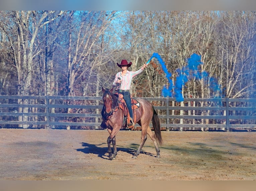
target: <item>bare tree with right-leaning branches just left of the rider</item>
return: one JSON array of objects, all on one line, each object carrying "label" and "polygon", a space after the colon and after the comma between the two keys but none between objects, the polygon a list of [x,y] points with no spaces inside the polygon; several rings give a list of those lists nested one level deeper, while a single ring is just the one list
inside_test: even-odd
[{"label": "bare tree with right-leaning branches just left of the rider", "polygon": [[115,17],[115,11],[70,12],[67,95],[76,95],[75,83],[83,76],[86,76],[84,91],[91,92],[89,85],[95,80],[92,76],[105,64],[101,59],[104,47],[100,46],[104,42],[103,34]]}]

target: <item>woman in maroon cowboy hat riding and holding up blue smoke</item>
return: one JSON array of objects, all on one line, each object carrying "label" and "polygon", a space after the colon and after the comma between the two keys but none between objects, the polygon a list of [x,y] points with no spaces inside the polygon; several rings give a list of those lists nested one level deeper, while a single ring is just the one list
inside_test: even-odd
[{"label": "woman in maroon cowboy hat riding and holding up blue smoke", "polygon": [[139,70],[133,72],[127,70],[132,65],[132,62],[128,64],[126,60],[122,60],[121,64],[117,63],[117,66],[122,69],[121,72],[118,72],[115,76],[115,80],[113,82],[113,86],[115,87],[117,83],[121,83],[119,87],[119,93],[124,96],[124,100],[126,102],[128,111],[130,113],[131,121],[128,123],[128,127],[134,125],[133,122],[133,112],[132,112],[132,103],[131,103],[131,95],[130,95],[130,88],[132,83],[132,78],[137,76],[138,74],[142,73],[143,70],[148,66],[144,64]]}]

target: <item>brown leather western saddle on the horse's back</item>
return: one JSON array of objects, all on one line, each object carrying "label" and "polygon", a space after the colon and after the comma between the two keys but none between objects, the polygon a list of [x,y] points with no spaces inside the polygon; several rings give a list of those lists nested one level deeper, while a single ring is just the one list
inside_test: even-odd
[{"label": "brown leather western saddle on the horse's back", "polygon": [[[122,127],[128,127],[128,128],[134,128],[135,124],[132,126],[128,126],[128,120],[130,119],[130,113],[129,110],[127,108],[127,105],[125,103],[125,100],[123,99],[123,95],[122,94],[118,94],[118,93],[114,93],[115,96],[118,97],[119,100],[119,108],[122,109],[123,111],[123,123],[122,123]],[[131,97],[131,101],[132,101],[132,111],[133,111],[133,121],[136,123],[136,109],[140,107],[140,103]]]}]

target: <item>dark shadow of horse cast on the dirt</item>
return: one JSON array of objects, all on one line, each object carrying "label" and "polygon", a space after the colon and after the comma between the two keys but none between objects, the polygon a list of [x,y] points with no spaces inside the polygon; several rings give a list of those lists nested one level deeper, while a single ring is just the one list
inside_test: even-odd
[{"label": "dark shadow of horse cast on the dirt", "polygon": [[[97,154],[98,157],[110,160],[109,157],[108,157],[108,147],[107,146],[102,147],[102,145],[104,145],[104,144],[107,145],[107,143],[90,144],[90,143],[86,143],[86,142],[81,142],[80,144],[82,144],[82,146],[84,148],[76,149],[77,151],[83,152],[85,154],[90,154],[90,153],[91,154]],[[117,153],[118,153],[118,151],[123,151],[123,152],[129,153],[130,155],[134,155],[137,151],[135,149],[136,146],[139,146],[139,145],[131,144],[132,148],[118,147],[118,145],[117,145]],[[113,148],[112,148],[112,151],[113,151]],[[146,154],[146,155],[149,155],[149,156],[154,156],[151,153],[148,153],[148,152],[145,152],[145,151],[141,151],[140,154]]]}]

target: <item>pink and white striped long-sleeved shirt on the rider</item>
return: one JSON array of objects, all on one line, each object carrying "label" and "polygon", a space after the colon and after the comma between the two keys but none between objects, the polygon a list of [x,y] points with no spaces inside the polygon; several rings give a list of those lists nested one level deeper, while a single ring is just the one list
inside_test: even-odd
[{"label": "pink and white striped long-sleeved shirt on the rider", "polygon": [[131,88],[131,83],[132,83],[132,78],[137,76],[138,74],[142,73],[144,70],[143,67],[141,67],[139,70],[133,72],[133,71],[128,71],[124,76],[121,75],[121,72],[118,72],[115,76],[115,80],[113,82],[113,85],[115,86],[117,83],[118,78],[121,78],[121,86],[120,90],[130,90]]}]

